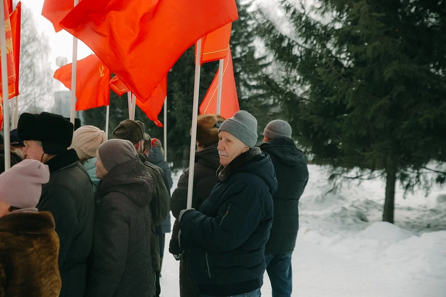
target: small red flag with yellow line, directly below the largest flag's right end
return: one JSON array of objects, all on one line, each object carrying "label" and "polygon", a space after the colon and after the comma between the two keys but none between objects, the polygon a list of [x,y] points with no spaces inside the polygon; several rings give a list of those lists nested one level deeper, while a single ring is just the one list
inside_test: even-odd
[{"label": "small red flag with yellow line, directly below the largest flag's right end", "polygon": [[[201,47],[201,65],[206,62],[220,60],[226,57],[231,38],[232,23],[210,32],[203,37]],[[195,44],[195,58],[197,57],[197,44]]]}]

